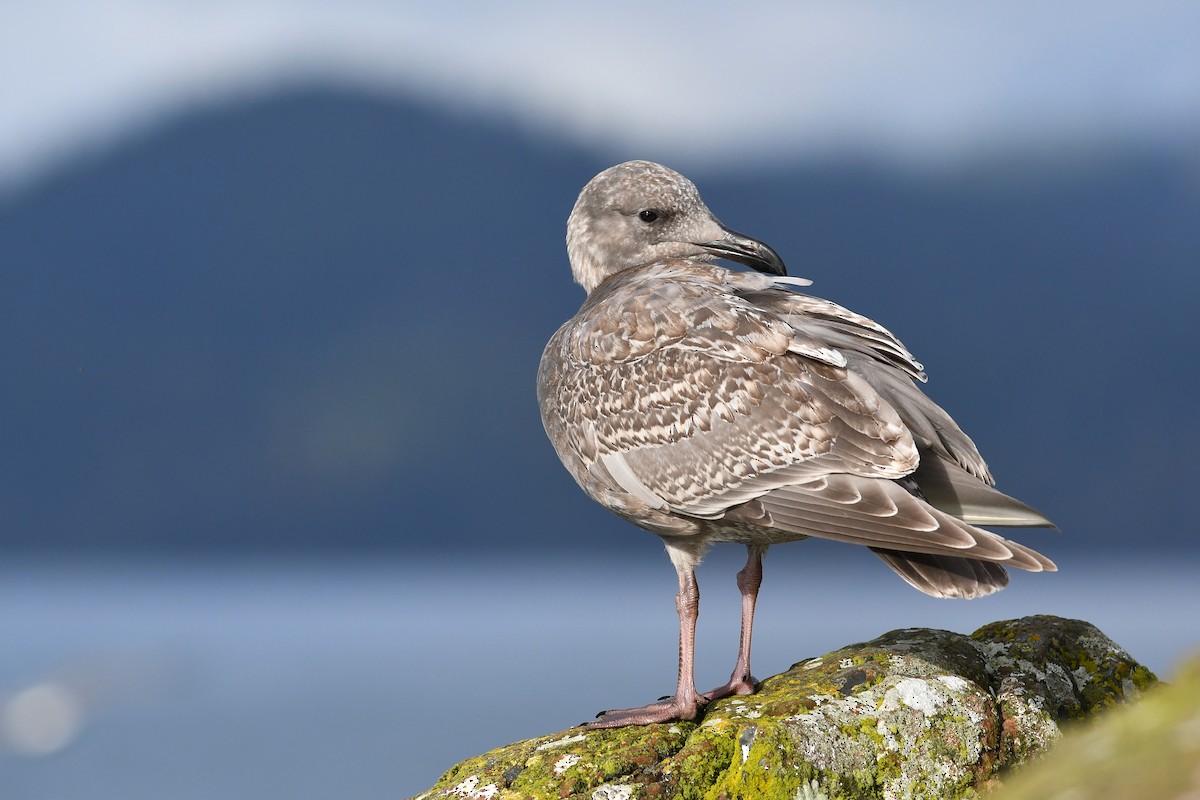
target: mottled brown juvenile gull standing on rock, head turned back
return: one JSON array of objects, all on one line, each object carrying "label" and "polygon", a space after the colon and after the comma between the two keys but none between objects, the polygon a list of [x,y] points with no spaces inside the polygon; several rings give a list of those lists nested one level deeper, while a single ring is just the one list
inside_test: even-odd
[{"label": "mottled brown juvenile gull standing on rock, head turned back", "polygon": [[[683,175],[647,161],[583,187],[566,251],[587,299],[538,371],[546,433],[588,497],[666,543],[679,577],[674,696],[589,727],[694,720],[755,690],[750,634],[762,555],[809,536],[864,545],[935,597],[979,597],[1004,566],[1052,571],[977,525],[1052,527],[991,488],[974,444],[914,381],[877,323],[798,293],[767,245],[724,227]],[[757,272],[726,269],[724,258]],[[695,567],[746,546],[730,680],[698,693]]]}]

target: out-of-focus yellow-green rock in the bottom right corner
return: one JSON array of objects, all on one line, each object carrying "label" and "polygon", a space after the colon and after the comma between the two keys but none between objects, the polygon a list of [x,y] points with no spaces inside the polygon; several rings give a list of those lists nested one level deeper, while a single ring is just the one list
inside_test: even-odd
[{"label": "out-of-focus yellow-green rock in the bottom right corner", "polygon": [[996,800],[1200,798],[1200,656],[1145,700],[1068,730]]}]

